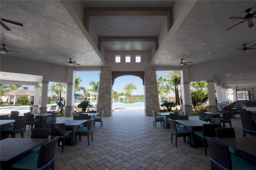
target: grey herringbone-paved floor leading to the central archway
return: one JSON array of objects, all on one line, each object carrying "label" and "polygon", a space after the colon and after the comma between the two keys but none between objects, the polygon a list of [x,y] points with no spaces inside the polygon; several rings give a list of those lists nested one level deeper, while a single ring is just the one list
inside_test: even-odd
[{"label": "grey herringbone-paved floor leading to the central archway", "polygon": [[[72,117],[58,117],[57,123],[63,119]],[[232,126],[236,136],[242,137],[239,115],[232,119]],[[76,146],[65,146],[64,153],[57,146],[55,169],[210,170],[210,154],[205,156],[204,148],[190,148],[183,138],[178,138],[176,148],[175,137],[174,143],[170,142],[170,129],[161,127],[159,122],[154,128],[153,117],[144,116],[144,109],[117,109],[112,117],[103,118],[102,128],[96,122],[93,134],[90,146],[87,136],[82,136]],[[30,128],[26,128],[25,136],[30,137]]]}]

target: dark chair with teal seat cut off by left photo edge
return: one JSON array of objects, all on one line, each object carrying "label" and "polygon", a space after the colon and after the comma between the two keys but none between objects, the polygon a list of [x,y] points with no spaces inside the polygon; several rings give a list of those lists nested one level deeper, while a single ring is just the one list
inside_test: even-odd
[{"label": "dark chair with teal seat cut off by left photo edge", "polygon": [[17,119],[14,122],[14,126],[1,129],[1,135],[10,134],[11,138],[15,138],[16,134],[21,134],[22,138],[24,138],[24,125],[26,119]]}]

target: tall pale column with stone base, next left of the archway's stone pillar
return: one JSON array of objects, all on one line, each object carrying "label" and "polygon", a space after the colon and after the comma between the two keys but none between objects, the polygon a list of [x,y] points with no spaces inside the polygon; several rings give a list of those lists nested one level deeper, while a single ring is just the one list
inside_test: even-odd
[{"label": "tall pale column with stone base, next left of the archway's stone pillar", "polygon": [[64,117],[72,117],[72,112],[74,112],[74,93],[75,93],[74,89],[75,89],[74,67],[68,67]]}]

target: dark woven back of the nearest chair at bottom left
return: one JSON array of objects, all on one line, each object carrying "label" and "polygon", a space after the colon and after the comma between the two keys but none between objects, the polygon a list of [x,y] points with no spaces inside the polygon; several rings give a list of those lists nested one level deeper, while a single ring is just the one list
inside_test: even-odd
[{"label": "dark woven back of the nearest chair at bottom left", "polygon": [[49,142],[46,142],[41,145],[38,156],[37,168],[42,168],[46,164],[50,164],[51,162],[54,161],[57,142],[58,136],[53,138]]}]

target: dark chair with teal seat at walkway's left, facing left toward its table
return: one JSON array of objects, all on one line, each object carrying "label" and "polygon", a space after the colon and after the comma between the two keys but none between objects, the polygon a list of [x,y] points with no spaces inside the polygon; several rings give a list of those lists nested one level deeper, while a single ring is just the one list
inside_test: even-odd
[{"label": "dark chair with teal seat at walkway's left, facing left toward its table", "polygon": [[93,140],[93,123],[94,123],[94,118],[92,118],[88,121],[88,126],[87,127],[81,127],[81,128],[76,129],[75,145],[76,145],[77,136],[79,136],[80,141],[81,141],[82,136],[87,136],[88,146],[90,145],[90,135],[91,135],[91,138]]}]

